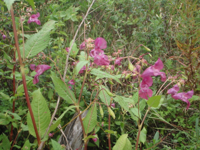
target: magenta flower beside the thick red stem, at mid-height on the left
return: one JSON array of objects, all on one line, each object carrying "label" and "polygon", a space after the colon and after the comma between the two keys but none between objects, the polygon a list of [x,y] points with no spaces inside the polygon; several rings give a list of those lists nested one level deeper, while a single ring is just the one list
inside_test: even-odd
[{"label": "magenta flower beside the thick red stem, at mid-height on the left", "polygon": [[36,84],[39,82],[39,76],[43,74],[46,70],[50,69],[51,66],[49,65],[38,65],[37,67],[34,64],[30,65],[31,70],[35,70],[36,75],[33,79],[33,84]]}]

